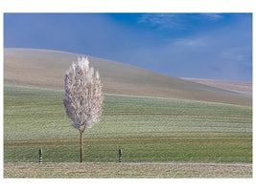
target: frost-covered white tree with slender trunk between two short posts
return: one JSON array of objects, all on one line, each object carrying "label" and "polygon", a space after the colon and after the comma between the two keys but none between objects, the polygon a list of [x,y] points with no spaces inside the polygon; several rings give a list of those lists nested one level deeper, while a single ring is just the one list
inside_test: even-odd
[{"label": "frost-covered white tree with slender trunk between two short posts", "polygon": [[82,138],[85,128],[91,128],[102,115],[104,96],[100,74],[89,66],[87,57],[79,57],[65,74],[66,114],[73,121],[72,126],[80,131],[81,162],[83,161]]}]

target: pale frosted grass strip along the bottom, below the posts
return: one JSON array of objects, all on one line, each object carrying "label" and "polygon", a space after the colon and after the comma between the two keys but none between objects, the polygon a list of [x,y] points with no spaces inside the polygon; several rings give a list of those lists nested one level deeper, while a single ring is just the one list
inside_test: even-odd
[{"label": "pale frosted grass strip along the bottom, below the posts", "polygon": [[4,178],[252,178],[251,164],[4,163]]}]

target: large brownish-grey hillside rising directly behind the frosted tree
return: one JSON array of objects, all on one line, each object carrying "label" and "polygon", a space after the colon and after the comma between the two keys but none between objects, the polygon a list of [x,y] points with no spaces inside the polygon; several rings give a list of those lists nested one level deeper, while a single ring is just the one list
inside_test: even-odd
[{"label": "large brownish-grey hillside rising directly behind the frosted tree", "polygon": [[[79,55],[49,50],[5,49],[4,81],[6,84],[61,90],[65,71]],[[97,57],[89,56],[89,60],[90,65],[99,70],[106,94],[173,97],[251,106],[252,98],[246,94]]]}]

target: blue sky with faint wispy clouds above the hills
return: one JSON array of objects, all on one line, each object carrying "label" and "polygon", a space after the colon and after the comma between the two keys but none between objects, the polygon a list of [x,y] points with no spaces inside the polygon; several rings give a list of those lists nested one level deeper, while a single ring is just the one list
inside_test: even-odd
[{"label": "blue sky with faint wispy clouds above the hills", "polygon": [[89,54],[177,77],[252,80],[251,13],[5,13],[4,47]]}]

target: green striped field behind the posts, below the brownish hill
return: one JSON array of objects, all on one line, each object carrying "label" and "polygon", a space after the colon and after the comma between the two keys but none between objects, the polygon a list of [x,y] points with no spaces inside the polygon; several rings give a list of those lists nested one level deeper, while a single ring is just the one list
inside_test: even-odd
[{"label": "green striped field behind the posts, below the brownish hill", "polygon": [[[4,87],[4,162],[80,161],[62,91]],[[84,132],[85,162],[252,163],[252,108],[105,95],[101,121]]]}]

